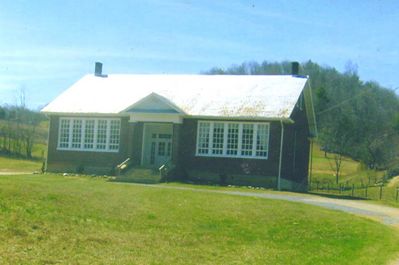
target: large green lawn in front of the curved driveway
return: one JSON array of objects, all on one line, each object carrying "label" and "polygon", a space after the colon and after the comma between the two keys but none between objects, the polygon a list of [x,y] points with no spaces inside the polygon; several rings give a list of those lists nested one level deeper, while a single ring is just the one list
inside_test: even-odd
[{"label": "large green lawn in front of the curved driveway", "polygon": [[0,264],[384,264],[399,238],[309,205],[112,183],[0,177]]}]

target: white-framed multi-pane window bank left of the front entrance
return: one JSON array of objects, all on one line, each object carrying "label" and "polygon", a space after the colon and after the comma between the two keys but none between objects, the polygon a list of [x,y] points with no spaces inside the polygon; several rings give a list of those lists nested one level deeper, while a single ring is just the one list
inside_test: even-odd
[{"label": "white-framed multi-pane window bank left of the front entrance", "polygon": [[58,149],[118,152],[120,119],[60,118]]}]

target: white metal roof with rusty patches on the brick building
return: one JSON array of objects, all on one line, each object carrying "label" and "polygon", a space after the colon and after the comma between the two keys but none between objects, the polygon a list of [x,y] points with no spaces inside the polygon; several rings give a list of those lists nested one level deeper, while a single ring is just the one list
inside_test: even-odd
[{"label": "white metal roof with rusty patches on the brick building", "polygon": [[156,93],[187,115],[289,118],[306,82],[290,75],[86,75],[42,111],[119,114]]}]

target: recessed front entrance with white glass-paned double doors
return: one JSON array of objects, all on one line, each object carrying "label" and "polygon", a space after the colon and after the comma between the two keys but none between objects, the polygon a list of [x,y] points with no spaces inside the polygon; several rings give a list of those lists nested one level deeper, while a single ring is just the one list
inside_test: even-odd
[{"label": "recessed front entrance with white glass-paned double doors", "polygon": [[142,165],[159,168],[172,158],[173,125],[146,123]]}]

